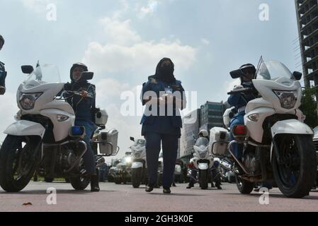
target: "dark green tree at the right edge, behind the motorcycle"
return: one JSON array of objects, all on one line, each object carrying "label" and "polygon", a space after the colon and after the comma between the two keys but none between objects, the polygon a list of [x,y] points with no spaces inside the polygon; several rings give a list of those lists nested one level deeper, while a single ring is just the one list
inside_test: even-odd
[{"label": "dark green tree at the right edge, behind the motorcycle", "polygon": [[305,88],[305,90],[302,91],[302,105],[300,109],[306,116],[305,124],[312,128],[318,126],[316,95],[316,88]]}]

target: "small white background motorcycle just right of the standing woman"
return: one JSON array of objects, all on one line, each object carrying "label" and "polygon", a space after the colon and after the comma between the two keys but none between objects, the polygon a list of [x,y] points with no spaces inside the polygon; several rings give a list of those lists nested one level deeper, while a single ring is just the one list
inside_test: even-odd
[{"label": "small white background motorcycle just right of the standing woman", "polygon": [[189,168],[198,172],[198,181],[201,189],[208,189],[208,183],[211,180],[212,167],[218,167],[219,162],[214,160],[214,157],[209,152],[209,140],[205,137],[200,137],[195,141],[193,146],[193,158],[189,162]]}]

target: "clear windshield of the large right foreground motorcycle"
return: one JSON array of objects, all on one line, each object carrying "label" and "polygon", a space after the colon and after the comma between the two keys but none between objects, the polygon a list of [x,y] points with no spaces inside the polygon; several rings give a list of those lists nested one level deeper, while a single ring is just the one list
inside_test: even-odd
[{"label": "clear windshield of the large right foreground motorcycle", "polygon": [[289,78],[295,80],[293,73],[278,61],[263,62],[256,73],[256,79],[277,80],[278,78]]}]

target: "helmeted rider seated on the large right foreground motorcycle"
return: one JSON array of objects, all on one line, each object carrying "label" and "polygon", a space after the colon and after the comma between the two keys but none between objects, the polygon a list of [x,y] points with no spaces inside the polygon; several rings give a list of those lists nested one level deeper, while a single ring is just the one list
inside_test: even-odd
[{"label": "helmeted rider seated on the large right foreground motorcycle", "polygon": [[[253,64],[244,64],[239,68],[243,73],[241,79],[241,85],[235,85],[233,90],[240,90],[242,88],[251,88],[252,87],[252,80],[256,74],[256,68]],[[245,107],[247,103],[251,100],[254,100],[256,95],[254,93],[244,94],[244,93],[234,93],[229,96],[227,102],[229,105],[235,107],[234,112],[237,114],[231,119],[229,126],[231,129],[230,132],[230,139],[231,141],[234,140],[234,136],[232,134],[232,129],[235,125],[244,125],[244,115],[245,115]],[[237,159],[241,160],[243,155],[243,145],[235,143],[233,145],[234,155]],[[267,187],[271,189],[271,184],[266,182],[262,182],[261,186]]]}]

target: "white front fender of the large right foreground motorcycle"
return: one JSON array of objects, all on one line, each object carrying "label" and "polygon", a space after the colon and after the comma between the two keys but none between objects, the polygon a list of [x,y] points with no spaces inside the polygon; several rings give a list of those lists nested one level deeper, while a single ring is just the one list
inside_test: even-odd
[{"label": "white front fender of the large right foreground motorcycle", "polygon": [[[314,136],[314,132],[305,123],[298,121],[297,119],[288,119],[283,121],[278,121],[271,128],[272,137],[278,134],[303,134]],[[273,154],[273,143],[271,145],[271,156]]]}]

